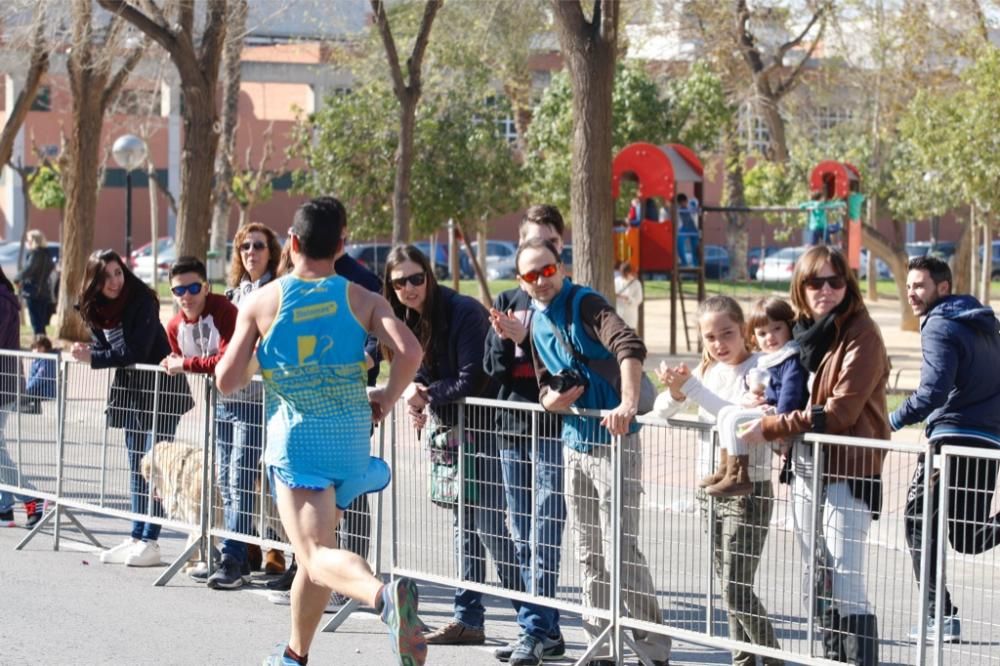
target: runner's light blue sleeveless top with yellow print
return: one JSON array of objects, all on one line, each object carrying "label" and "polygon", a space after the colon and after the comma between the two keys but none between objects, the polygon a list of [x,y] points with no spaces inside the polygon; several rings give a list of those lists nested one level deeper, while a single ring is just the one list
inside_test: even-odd
[{"label": "runner's light blue sleeveless top with yellow print", "polygon": [[369,463],[371,407],[365,328],[339,275],[278,280],[278,313],[257,360],[266,387],[264,462],[293,474],[345,480]]}]

